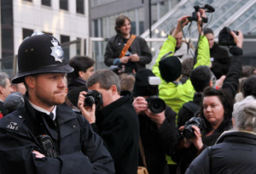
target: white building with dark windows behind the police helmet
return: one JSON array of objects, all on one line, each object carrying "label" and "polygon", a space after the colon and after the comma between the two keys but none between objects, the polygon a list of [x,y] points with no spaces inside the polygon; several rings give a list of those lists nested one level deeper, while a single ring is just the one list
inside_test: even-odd
[{"label": "white building with dark windows behind the police helmet", "polygon": [[[13,68],[11,59],[20,42],[33,31],[53,35],[61,43],[77,39],[88,42],[88,4],[88,0],[1,0],[2,70]],[[79,52],[79,44],[63,49],[70,58]]]}]

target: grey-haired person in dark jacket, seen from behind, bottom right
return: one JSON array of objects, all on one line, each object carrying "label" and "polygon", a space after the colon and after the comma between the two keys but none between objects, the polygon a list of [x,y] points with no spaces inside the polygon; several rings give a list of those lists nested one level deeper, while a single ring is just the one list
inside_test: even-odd
[{"label": "grey-haired person in dark jacket, seen from behind, bottom right", "polygon": [[234,104],[233,129],[224,132],[212,147],[205,149],[186,173],[255,173],[256,101],[248,96]]}]

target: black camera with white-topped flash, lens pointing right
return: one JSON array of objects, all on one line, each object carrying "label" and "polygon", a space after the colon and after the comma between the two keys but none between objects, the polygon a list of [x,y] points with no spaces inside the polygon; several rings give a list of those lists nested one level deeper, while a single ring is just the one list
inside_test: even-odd
[{"label": "black camera with white-topped flash, lens pointing right", "polygon": [[149,98],[146,98],[148,102],[148,109],[151,112],[158,114],[161,113],[166,109],[166,103],[164,100],[159,98],[158,95],[158,85],[160,84],[160,78],[157,76],[148,76],[148,91],[149,91]]}]

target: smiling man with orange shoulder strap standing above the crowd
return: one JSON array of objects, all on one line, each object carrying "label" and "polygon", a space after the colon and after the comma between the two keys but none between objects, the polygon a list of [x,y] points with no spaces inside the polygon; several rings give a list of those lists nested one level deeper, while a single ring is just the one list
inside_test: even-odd
[{"label": "smiling man with orange shoulder strap standing above the crowd", "polygon": [[119,15],[115,20],[115,31],[117,35],[108,41],[104,63],[108,66],[124,65],[128,73],[144,69],[151,62],[152,55],[142,37],[131,35],[131,20]]}]

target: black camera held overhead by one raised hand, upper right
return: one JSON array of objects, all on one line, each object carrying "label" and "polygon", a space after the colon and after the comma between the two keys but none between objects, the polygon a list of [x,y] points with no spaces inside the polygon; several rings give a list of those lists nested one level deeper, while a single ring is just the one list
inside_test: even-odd
[{"label": "black camera held overhead by one raised hand, upper right", "polygon": [[[238,31],[234,31],[238,35]],[[230,34],[230,28],[224,26],[224,28],[218,33],[218,44],[222,46],[234,46],[236,42],[234,37]]]}]

